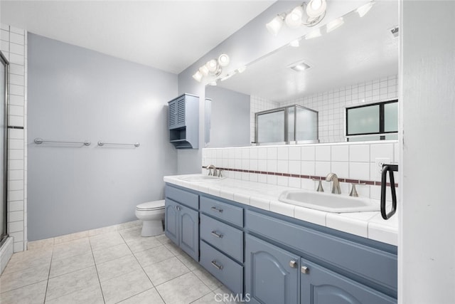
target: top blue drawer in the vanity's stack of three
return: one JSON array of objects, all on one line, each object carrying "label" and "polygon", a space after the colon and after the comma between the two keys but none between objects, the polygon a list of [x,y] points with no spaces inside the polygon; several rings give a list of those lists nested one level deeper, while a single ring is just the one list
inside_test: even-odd
[{"label": "top blue drawer in the vanity's stack of three", "polygon": [[243,227],[243,209],[240,207],[201,196],[200,211],[218,219],[222,219],[223,221],[228,221],[229,223]]}]

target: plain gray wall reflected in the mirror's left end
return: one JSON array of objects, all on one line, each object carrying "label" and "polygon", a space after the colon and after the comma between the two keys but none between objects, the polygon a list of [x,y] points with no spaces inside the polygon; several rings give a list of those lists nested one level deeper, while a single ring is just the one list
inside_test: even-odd
[{"label": "plain gray wall reflected in the mirror's left end", "polygon": [[207,147],[250,145],[250,95],[207,86],[205,98],[212,100],[210,143]]}]

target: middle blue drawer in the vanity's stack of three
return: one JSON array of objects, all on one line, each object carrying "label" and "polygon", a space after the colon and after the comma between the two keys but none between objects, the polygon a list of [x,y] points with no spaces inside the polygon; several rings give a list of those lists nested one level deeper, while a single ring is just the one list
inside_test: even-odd
[{"label": "middle blue drawer in the vanity's stack of three", "polygon": [[232,256],[237,261],[243,261],[243,232],[200,214],[200,239]]}]

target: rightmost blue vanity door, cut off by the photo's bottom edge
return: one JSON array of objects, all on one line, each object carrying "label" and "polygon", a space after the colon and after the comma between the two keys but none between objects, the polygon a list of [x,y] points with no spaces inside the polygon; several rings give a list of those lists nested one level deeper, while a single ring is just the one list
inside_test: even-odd
[{"label": "rightmost blue vanity door, cut off by the photo's bottom edge", "polygon": [[397,303],[396,299],[303,258],[300,261],[300,265],[301,304]]}]

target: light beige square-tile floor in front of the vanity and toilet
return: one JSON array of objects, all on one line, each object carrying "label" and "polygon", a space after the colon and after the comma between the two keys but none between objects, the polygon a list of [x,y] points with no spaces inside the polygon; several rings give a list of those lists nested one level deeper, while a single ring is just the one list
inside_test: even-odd
[{"label": "light beige square-tile floor in front of the vanity and toilet", "polygon": [[[229,290],[166,236],[141,227],[30,243],[0,276],[0,303],[223,303]],[[90,231],[89,231],[90,232]]]}]

